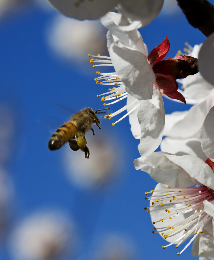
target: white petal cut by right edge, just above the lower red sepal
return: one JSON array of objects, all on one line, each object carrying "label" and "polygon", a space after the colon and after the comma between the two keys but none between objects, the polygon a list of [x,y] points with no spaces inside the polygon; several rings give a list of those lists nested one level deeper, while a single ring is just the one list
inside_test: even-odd
[{"label": "white petal cut by right edge, just above the lower red sepal", "polygon": [[214,161],[214,107],[210,109],[210,112],[206,116],[204,123],[200,129],[201,146],[206,156]]}]

